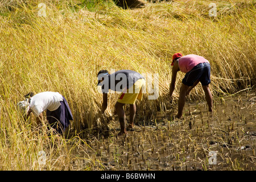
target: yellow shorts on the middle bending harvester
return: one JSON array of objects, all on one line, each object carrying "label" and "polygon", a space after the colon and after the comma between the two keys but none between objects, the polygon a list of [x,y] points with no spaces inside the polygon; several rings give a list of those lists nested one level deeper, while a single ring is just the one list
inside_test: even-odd
[{"label": "yellow shorts on the middle bending harvester", "polygon": [[145,89],[146,81],[143,78],[139,79],[129,89],[123,89],[123,92],[120,94],[117,102],[122,104],[135,104],[137,99],[142,101],[142,96],[143,93],[145,93]]}]

